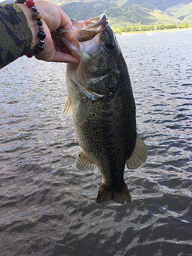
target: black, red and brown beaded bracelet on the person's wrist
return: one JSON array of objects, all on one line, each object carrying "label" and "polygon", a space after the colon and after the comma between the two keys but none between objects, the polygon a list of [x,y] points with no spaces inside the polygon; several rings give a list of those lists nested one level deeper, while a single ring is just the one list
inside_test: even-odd
[{"label": "black, red and brown beaded bracelet on the person's wrist", "polygon": [[39,44],[35,46],[35,50],[28,52],[26,56],[28,58],[33,57],[34,55],[38,55],[39,51],[42,52],[44,50],[44,39],[46,38],[46,33],[44,32],[44,28],[42,27],[41,22],[41,14],[37,12],[37,7],[35,6],[34,0],[16,0],[17,4],[24,4],[26,2],[27,7],[31,8],[33,11],[33,18],[37,21],[38,26],[38,38],[39,38]]}]

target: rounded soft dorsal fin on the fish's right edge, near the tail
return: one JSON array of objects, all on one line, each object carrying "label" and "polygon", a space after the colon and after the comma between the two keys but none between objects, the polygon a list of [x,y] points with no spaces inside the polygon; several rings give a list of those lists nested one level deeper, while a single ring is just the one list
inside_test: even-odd
[{"label": "rounded soft dorsal fin on the fish's right edge, near the tail", "polygon": [[136,169],[141,166],[147,159],[147,150],[145,143],[137,134],[135,147],[129,159],[126,160],[126,166],[129,169]]}]

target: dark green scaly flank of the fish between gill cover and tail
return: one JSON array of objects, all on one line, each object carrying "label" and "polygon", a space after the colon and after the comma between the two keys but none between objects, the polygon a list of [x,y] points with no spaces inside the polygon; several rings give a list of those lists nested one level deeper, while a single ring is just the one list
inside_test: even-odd
[{"label": "dark green scaly flank of the fish between gill cover and tail", "polygon": [[[69,73],[67,70],[67,76]],[[95,163],[108,179],[110,179],[109,170],[112,171],[113,176],[118,174],[119,169],[123,174],[125,161],[131,156],[136,140],[134,98],[130,97],[130,94],[133,95],[131,87],[130,91],[124,92],[124,86],[127,87],[129,80],[128,75],[124,80],[126,82],[119,84],[114,96],[101,98],[92,103],[89,116],[81,125],[77,125],[75,118],[76,105],[83,95],[76,84],[68,88],[74,110],[73,122],[77,142],[90,161]],[[116,180],[111,179],[111,183]],[[122,179],[118,182],[122,183]]]}]

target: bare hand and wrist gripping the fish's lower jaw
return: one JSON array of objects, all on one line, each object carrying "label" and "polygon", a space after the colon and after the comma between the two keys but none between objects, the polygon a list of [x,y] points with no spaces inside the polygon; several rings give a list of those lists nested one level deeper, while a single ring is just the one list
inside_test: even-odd
[{"label": "bare hand and wrist gripping the fish's lower jaw", "polygon": [[[26,15],[33,34],[33,44],[35,47],[38,45],[39,38],[37,37],[37,22],[32,16],[33,12],[26,4],[18,5]],[[35,57],[45,61],[79,63],[79,60],[71,54],[70,50],[61,41],[56,32],[58,27],[72,29],[70,18],[55,4],[37,0],[35,1],[35,6],[37,7],[37,11],[41,14],[42,26],[46,33],[44,51],[39,52]]]}]

